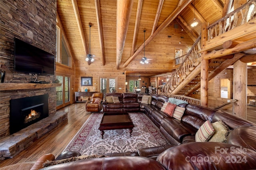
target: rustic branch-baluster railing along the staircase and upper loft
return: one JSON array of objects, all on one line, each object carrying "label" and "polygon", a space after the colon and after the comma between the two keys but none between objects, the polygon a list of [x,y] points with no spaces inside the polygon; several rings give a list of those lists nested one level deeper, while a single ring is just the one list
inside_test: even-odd
[{"label": "rustic branch-baluster railing along the staircase and upper loft", "polygon": [[[214,22],[208,29],[208,40],[215,38],[225,32],[228,32],[240,25],[246,24],[253,20],[256,15],[256,1],[250,0],[246,4],[237,8],[230,14]],[[238,16],[242,16],[242,19],[238,19]],[[241,17],[240,17],[241,18]],[[169,81],[162,87],[162,95],[172,95],[172,91],[194,70],[194,68],[200,64],[201,61],[201,35],[198,37],[190,51],[186,55],[182,55],[175,59],[177,64],[180,64],[176,71],[173,71],[168,75]]]}]

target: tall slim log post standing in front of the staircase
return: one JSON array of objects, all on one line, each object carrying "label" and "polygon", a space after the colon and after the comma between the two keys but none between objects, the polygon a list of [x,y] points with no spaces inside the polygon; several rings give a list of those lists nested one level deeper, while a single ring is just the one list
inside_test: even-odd
[{"label": "tall slim log post standing in front of the staircase", "polygon": [[[202,49],[205,48],[206,39],[207,39],[207,29],[206,23],[202,24],[201,30],[201,45]],[[204,59],[204,55],[206,55],[206,51],[202,51],[202,61],[201,61],[201,106],[208,107],[208,68],[209,68],[209,60]]]}]

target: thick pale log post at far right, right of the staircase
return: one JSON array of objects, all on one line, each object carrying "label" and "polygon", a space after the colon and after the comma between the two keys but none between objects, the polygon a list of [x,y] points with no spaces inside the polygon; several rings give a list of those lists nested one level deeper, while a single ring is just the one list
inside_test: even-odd
[{"label": "thick pale log post at far right, right of the staircase", "polygon": [[247,63],[238,60],[233,70],[233,115],[246,119],[247,114]]}]

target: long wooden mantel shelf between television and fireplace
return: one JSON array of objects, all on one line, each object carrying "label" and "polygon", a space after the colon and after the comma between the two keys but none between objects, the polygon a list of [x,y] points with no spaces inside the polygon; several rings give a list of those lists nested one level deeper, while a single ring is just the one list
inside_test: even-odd
[{"label": "long wooden mantel shelf between television and fireplace", "polygon": [[62,83],[49,83],[49,84],[37,84],[37,83],[0,83],[0,91],[6,90],[24,90],[24,89],[44,89],[59,87]]}]

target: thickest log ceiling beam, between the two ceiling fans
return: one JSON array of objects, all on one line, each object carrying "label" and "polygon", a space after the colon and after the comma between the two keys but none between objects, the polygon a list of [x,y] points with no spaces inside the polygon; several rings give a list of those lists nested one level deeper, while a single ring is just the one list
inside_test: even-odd
[{"label": "thickest log ceiling beam, between the two ceiling fans", "polygon": [[116,69],[119,69],[132,14],[133,0],[118,0],[116,3]]}]

